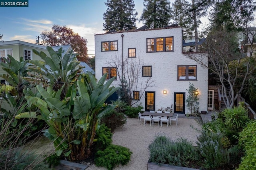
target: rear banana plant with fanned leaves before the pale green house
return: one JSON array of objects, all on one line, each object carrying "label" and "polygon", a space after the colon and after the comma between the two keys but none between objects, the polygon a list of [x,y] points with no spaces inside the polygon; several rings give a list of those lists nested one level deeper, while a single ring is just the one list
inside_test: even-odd
[{"label": "rear banana plant with fanned leaves before the pale green house", "polygon": [[70,84],[77,80],[81,68],[79,61],[73,51],[62,56],[62,47],[58,49],[58,52],[49,46],[46,49],[50,57],[43,51],[39,52],[33,49],[33,53],[40,56],[42,60],[29,61],[35,67],[28,67],[30,77],[24,77],[24,79],[42,83],[45,87],[51,86],[54,91],[62,88],[61,97],[63,99]]}]

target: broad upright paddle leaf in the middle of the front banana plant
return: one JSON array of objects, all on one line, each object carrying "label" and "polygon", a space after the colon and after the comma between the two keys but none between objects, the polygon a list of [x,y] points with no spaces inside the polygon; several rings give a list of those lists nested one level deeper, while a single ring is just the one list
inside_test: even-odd
[{"label": "broad upright paddle leaf in the middle of the front banana plant", "polygon": [[88,113],[90,109],[90,99],[84,99],[82,96],[77,96],[74,98],[74,119],[82,119]]}]

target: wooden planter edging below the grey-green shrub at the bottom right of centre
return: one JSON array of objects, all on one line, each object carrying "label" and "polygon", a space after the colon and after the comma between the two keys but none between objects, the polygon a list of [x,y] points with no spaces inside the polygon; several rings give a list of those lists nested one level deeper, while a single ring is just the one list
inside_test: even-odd
[{"label": "wooden planter edging below the grey-green shrub at the bottom right of centre", "polygon": [[187,168],[182,166],[174,166],[174,165],[168,165],[168,164],[161,164],[161,166],[159,166],[154,162],[148,162],[148,170],[198,170],[198,169]]}]

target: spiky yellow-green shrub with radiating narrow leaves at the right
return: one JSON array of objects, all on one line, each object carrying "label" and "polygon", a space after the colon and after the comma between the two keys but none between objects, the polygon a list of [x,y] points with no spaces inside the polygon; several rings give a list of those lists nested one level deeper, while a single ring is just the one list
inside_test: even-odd
[{"label": "spiky yellow-green shrub with radiating narrow leaves at the right", "polygon": [[224,109],[225,125],[232,130],[242,131],[246,123],[250,121],[248,113],[241,105],[232,109]]}]

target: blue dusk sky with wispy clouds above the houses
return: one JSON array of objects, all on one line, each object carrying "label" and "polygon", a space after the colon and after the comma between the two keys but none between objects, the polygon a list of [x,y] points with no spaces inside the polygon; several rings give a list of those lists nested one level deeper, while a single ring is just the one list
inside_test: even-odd
[{"label": "blue dusk sky with wispy clouds above the houses", "polygon": [[[2,40],[35,43],[36,37],[44,30],[51,30],[52,25],[66,25],[88,40],[88,54],[92,56],[94,34],[104,33],[102,17],[107,9],[104,2],[106,0],[28,0],[29,7],[0,7]],[[134,2],[140,18],[143,0]],[[137,22],[136,26],[143,24]]]}]

